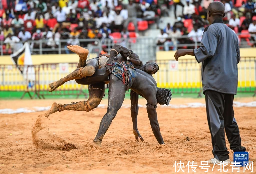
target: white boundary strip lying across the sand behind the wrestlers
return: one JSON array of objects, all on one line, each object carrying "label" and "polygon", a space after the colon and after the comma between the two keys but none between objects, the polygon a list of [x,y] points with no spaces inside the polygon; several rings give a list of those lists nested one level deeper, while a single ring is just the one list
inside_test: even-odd
[{"label": "white boundary strip lying across the sand behind the wrestlers", "polygon": [[[130,108],[130,104],[123,104],[121,108]],[[238,101],[233,102],[234,107],[256,107],[256,101],[249,103],[241,103]],[[186,104],[169,104],[166,105],[157,105],[159,108],[204,108],[204,103],[186,103]],[[51,107],[32,107],[32,108],[18,108],[18,109],[0,109],[0,114],[15,114],[15,113],[30,113],[30,112],[40,112],[47,111]],[[106,104],[99,104],[97,108],[107,108]],[[140,105],[139,108],[146,108],[145,105]]]}]

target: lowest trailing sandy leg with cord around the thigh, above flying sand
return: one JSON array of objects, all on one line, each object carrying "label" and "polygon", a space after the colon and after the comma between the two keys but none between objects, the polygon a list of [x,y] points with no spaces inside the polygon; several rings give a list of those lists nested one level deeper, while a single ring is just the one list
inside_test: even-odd
[{"label": "lowest trailing sandy leg with cord around the thigh, above flying sand", "polygon": [[71,104],[57,104],[53,103],[51,109],[45,113],[46,117],[49,117],[52,113],[57,111],[91,111],[100,104],[102,98],[104,97],[105,83],[97,83],[89,85],[89,98],[88,100],[71,103]]}]

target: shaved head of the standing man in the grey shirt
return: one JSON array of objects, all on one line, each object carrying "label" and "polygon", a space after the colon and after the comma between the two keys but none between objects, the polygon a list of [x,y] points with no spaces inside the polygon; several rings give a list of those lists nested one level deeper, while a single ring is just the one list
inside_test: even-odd
[{"label": "shaved head of the standing man in the grey shirt", "polygon": [[223,3],[215,1],[211,3],[207,9],[207,20],[210,24],[215,19],[222,19],[225,16],[225,6]]}]

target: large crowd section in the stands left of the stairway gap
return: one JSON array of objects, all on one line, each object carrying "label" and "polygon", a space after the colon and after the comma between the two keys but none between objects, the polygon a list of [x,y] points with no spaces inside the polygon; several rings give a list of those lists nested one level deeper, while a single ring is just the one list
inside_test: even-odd
[{"label": "large crowd section in the stands left of the stairway gap", "polygon": [[[2,4],[1,4],[2,2]],[[19,49],[27,40],[45,40],[44,48],[56,48],[83,38],[112,38],[111,33],[127,33],[129,22],[138,32],[138,20],[159,21],[161,3],[154,0],[2,0],[0,41],[4,50]],[[166,3],[163,1],[162,3]],[[163,10],[165,13],[165,9]],[[47,42],[46,42],[47,41]],[[80,43],[83,44],[83,43]],[[87,44],[87,43],[84,43]],[[86,46],[86,45],[81,45]],[[39,48],[39,43],[31,44]],[[66,50],[68,53],[69,51]]]}]

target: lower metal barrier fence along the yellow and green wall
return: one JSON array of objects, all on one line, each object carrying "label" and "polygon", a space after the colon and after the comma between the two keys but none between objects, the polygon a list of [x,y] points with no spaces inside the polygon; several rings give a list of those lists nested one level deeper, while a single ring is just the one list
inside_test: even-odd
[{"label": "lower metal barrier fence along the yellow and green wall", "polygon": [[[158,87],[170,88],[173,93],[197,93],[201,96],[201,63],[197,63],[194,58],[180,59],[178,62],[175,60],[156,62],[159,71],[153,77]],[[0,91],[24,91],[24,95],[28,93],[31,99],[44,98],[47,95],[87,96],[88,85],[79,85],[74,80],[66,82],[54,92],[48,92],[49,83],[63,78],[76,67],[77,63],[0,65]],[[256,94],[256,57],[241,58],[238,64],[238,92]]]}]

